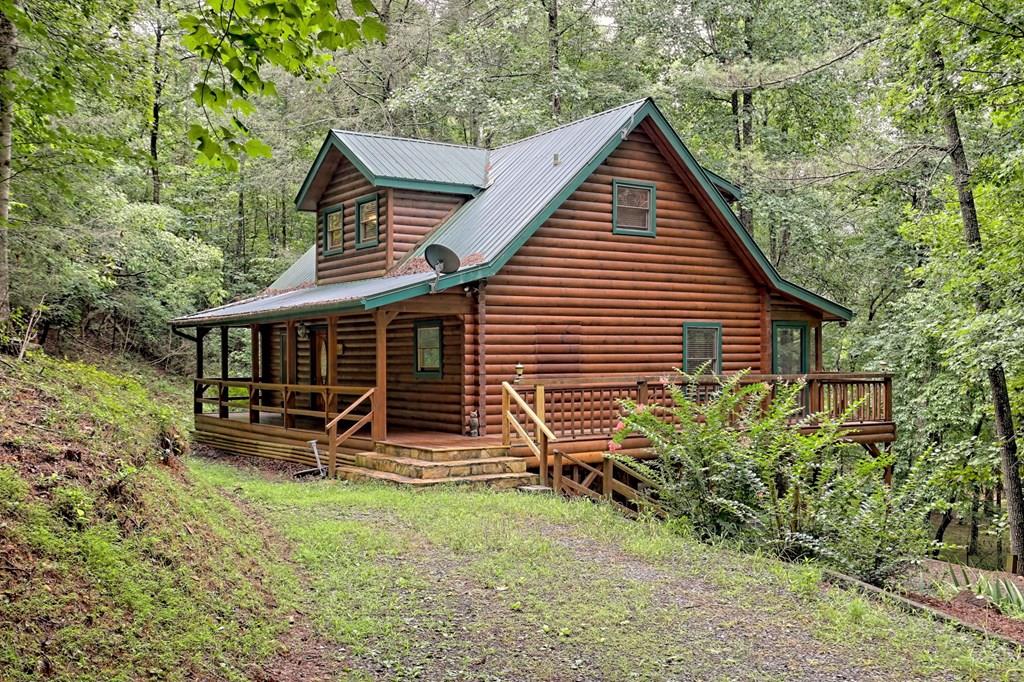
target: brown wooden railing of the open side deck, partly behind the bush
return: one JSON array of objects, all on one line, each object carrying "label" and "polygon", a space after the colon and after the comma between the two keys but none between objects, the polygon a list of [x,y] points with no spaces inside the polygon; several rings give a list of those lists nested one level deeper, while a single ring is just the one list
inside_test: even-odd
[{"label": "brown wooden railing of the open side deck, partly behind the bush", "polygon": [[[545,377],[543,384],[518,385],[515,391],[524,403],[531,403],[538,412],[543,412],[544,422],[558,438],[586,439],[610,435],[621,419],[620,401],[623,398],[639,404],[671,404],[670,380],[675,381],[675,378]],[[821,413],[833,419],[845,415],[844,424],[848,425],[892,421],[892,378],[889,375],[748,374],[742,383],[764,382],[774,387],[801,380],[806,384],[798,396],[802,415]],[[694,386],[697,400],[708,399],[718,388],[715,377],[699,378]],[[513,417],[524,414],[521,408],[516,411],[515,403],[511,407]]]}]

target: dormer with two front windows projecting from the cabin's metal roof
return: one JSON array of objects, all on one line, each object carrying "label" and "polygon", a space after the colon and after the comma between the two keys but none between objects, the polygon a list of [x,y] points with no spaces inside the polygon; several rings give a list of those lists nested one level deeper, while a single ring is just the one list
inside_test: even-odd
[{"label": "dormer with two front windows projecting from the cabin's metal roof", "polygon": [[316,212],[316,284],[387,272],[486,184],[487,151],[332,130],[296,197]]}]

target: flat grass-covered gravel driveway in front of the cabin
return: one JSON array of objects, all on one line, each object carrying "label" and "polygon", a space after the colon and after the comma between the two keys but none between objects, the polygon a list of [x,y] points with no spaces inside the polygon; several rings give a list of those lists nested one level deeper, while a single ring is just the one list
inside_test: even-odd
[{"label": "flat grass-covered gravel driveway in front of the cabin", "polygon": [[[319,679],[1024,679],[1008,648],[589,502],[193,459],[280,538]],[[275,668],[275,666],[278,668]]]}]

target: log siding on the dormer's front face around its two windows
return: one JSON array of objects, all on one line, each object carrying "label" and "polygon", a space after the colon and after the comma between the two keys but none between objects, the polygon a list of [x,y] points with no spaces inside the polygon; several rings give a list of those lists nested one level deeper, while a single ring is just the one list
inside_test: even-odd
[{"label": "log siding on the dormer's front face around its two windows", "polygon": [[[387,193],[376,190],[380,202],[380,243],[369,249],[355,249],[355,200],[373,194],[375,187],[347,159],[334,171],[330,183],[316,204],[316,282],[333,284],[383,274],[387,268]],[[344,253],[324,255],[324,210],[343,204]]]}]

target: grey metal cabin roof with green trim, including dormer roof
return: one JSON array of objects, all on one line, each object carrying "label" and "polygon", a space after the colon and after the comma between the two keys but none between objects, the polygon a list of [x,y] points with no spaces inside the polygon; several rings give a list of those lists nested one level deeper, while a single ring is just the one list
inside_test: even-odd
[{"label": "grey metal cabin roof with green trim, including dormer roof", "polygon": [[[420,188],[431,188],[428,185],[433,183],[434,190],[444,191],[436,187],[445,186],[451,193],[471,195],[469,201],[429,232],[392,270],[392,274],[404,271],[403,266],[411,260],[421,258],[431,244],[446,246],[460,256],[463,266],[456,272],[441,275],[436,285],[436,290],[441,291],[497,273],[643,121],[650,121],[655,126],[678,161],[692,173],[699,190],[717,209],[733,241],[748,253],[766,284],[837,318],[850,319],[853,316],[849,308],[781,276],[729,207],[726,197],[738,198],[739,187],[697,164],[649,98],[616,106],[489,152],[438,142],[332,131],[303,183],[297,203],[300,209],[315,209],[317,193],[310,188],[315,187],[317,181],[326,182],[316,180],[316,176],[332,151],[352,161],[368,179],[379,186],[412,186],[409,183],[418,183]],[[380,158],[374,156],[377,153],[380,153]],[[406,184],[395,184],[399,181]],[[308,287],[308,283],[314,281],[314,261],[315,258],[307,252],[279,278],[280,283],[307,286],[305,291],[310,293],[293,297],[294,292],[286,292],[262,298],[258,305],[251,302],[228,304],[218,308],[214,317],[203,319],[216,319],[218,323],[242,316],[252,319],[254,314],[266,316],[275,309],[287,309],[288,314],[299,316],[313,308],[322,310],[342,304],[346,309],[355,306],[369,310],[431,291],[432,276],[398,275],[360,281],[366,283],[365,288],[358,287],[359,283],[346,283],[344,291],[331,289],[322,296],[315,292],[339,285]],[[278,303],[279,308],[274,308]],[[234,305],[243,307],[232,309]],[[174,324],[196,325],[202,314],[181,318]]]}]

